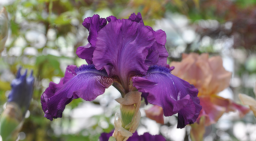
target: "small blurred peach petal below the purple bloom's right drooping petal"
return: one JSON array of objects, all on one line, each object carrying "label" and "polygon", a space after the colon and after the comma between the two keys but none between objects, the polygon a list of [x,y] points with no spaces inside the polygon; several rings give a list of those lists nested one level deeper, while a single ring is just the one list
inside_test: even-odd
[{"label": "small blurred peach petal below the purple bloom's right drooping petal", "polygon": [[164,124],[164,112],[163,108],[157,105],[154,105],[152,108],[145,110],[146,117],[155,120],[157,123]]}]

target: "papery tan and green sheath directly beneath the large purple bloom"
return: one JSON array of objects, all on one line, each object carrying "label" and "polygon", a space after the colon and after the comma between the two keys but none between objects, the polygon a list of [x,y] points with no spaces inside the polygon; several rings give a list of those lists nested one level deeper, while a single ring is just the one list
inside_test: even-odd
[{"label": "papery tan and green sheath directly beneath the large purple bloom", "polygon": [[126,141],[139,126],[141,92],[129,92],[124,98],[117,98],[116,101],[120,103],[121,114],[116,113],[115,115],[115,130],[112,136],[117,141]]}]

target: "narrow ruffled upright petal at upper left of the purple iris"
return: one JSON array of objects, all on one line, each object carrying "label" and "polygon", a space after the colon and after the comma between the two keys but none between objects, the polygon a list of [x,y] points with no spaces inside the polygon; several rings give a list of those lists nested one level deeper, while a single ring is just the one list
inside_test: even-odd
[{"label": "narrow ruffled upright petal at upper left of the purple iris", "polygon": [[92,64],[92,53],[95,49],[98,31],[107,24],[107,20],[99,18],[99,15],[93,15],[84,19],[83,26],[89,31],[88,44],[77,48],[77,56],[85,59],[88,64]]}]

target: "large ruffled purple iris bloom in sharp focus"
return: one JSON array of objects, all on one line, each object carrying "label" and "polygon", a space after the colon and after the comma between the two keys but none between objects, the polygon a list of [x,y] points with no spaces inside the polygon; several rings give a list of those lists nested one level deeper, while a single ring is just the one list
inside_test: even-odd
[{"label": "large ruffled purple iris bloom in sharp focus", "polygon": [[68,66],[59,84],[50,82],[41,95],[44,117],[62,117],[73,99],[92,101],[113,85],[122,97],[130,91],[142,92],[147,102],[163,108],[165,116],[179,113],[178,128],[195,122],[202,109],[198,90],[166,68],[164,31],[145,26],[140,13],[129,19],[94,15],[84,19],[83,25],[89,31],[89,43],[76,53],[88,65]]}]

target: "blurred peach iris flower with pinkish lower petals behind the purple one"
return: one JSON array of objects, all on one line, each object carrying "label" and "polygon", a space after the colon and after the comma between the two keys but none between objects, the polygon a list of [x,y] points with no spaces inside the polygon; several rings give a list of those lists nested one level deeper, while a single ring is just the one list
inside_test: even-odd
[{"label": "blurred peach iris flower with pinkish lower petals behind the purple one", "polygon": [[[170,66],[175,67],[172,70],[173,75],[193,84],[199,90],[198,97],[202,110],[197,118],[197,124],[200,125],[194,124],[195,128],[216,123],[225,112],[238,110],[241,117],[249,112],[248,108],[217,95],[217,93],[229,87],[232,75],[231,72],[223,68],[220,56],[209,58],[208,53],[202,53],[201,55],[197,53],[182,54],[182,61],[171,62]],[[150,116],[147,115],[147,117]],[[204,117],[203,120],[200,120],[200,117]],[[200,134],[203,135],[202,132]],[[202,137],[202,135],[200,136]]]}]

